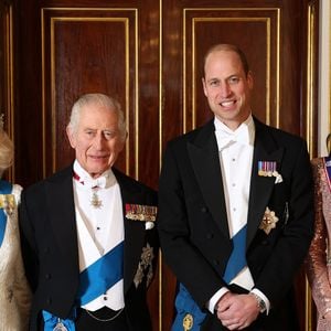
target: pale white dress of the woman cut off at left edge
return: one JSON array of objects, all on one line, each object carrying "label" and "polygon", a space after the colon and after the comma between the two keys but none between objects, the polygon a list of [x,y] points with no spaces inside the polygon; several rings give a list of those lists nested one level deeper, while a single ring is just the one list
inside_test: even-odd
[{"label": "pale white dress of the woman cut off at left edge", "polygon": [[24,276],[17,209],[21,190],[13,185],[15,207],[4,210],[7,224],[0,246],[0,331],[25,331],[29,323],[31,293]]}]

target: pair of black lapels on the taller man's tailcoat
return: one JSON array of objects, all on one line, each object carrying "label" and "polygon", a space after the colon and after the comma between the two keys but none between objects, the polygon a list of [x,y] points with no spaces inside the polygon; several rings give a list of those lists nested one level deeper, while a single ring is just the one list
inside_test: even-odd
[{"label": "pair of black lapels on the taller man's tailcoat", "polygon": [[[276,161],[277,170],[279,170],[284,154],[284,148],[278,147],[268,127],[255,118],[254,121],[256,132],[247,215],[247,247],[258,229],[275,185],[275,177],[258,175],[258,161]],[[196,138],[188,143],[188,152],[204,201],[223,235],[229,238],[218,148],[214,131],[214,120],[211,120],[201,129]]]}]

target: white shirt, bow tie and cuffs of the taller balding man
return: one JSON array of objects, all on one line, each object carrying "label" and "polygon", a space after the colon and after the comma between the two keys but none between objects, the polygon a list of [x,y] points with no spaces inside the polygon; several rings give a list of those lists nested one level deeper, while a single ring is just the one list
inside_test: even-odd
[{"label": "white shirt, bow tie and cuffs of the taller balding man", "polygon": [[[255,125],[252,115],[234,131],[216,117],[214,125],[229,236],[233,237],[247,223]],[[249,268],[246,266],[231,284],[236,284],[250,291],[254,288],[254,280]],[[214,311],[216,302],[226,291],[226,288],[220,289],[209,301],[207,308],[211,312]],[[258,289],[252,291],[258,295],[269,309],[266,296]]]}]

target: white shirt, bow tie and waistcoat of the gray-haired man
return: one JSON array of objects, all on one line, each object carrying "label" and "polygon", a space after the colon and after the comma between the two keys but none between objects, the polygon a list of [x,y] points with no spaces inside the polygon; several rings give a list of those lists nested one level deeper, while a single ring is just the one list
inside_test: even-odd
[{"label": "white shirt, bow tie and waistcoat of the gray-haired man", "polygon": [[[111,169],[93,179],[74,162],[74,199],[77,220],[79,270],[124,241],[124,213],[120,188]],[[93,188],[97,189],[98,207],[92,205]],[[95,311],[102,307],[118,310],[124,307],[122,280],[84,308]]]}]

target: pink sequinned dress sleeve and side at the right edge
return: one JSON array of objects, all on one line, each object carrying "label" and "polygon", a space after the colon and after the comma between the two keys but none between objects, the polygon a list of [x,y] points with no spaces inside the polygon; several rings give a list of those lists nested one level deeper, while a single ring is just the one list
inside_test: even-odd
[{"label": "pink sequinned dress sleeve and side at the right edge", "polygon": [[331,331],[331,185],[324,158],[311,161],[314,179],[314,236],[306,260],[307,276],[318,309],[317,331]]}]

